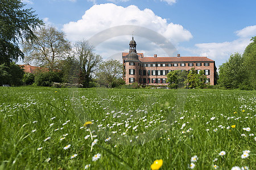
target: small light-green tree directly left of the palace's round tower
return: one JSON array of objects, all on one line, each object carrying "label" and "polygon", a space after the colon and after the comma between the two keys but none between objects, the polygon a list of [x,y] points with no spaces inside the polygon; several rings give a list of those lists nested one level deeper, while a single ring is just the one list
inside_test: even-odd
[{"label": "small light-green tree directly left of the palace's round tower", "polygon": [[102,83],[109,84],[109,87],[112,88],[113,82],[118,81],[122,73],[122,63],[118,60],[110,59],[102,62],[100,66],[98,66],[96,75]]}]

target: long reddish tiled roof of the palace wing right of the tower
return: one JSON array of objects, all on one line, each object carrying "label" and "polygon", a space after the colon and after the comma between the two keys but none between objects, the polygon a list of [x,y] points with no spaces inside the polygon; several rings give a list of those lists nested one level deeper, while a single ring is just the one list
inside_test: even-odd
[{"label": "long reddish tiled roof of the palace wing right of the tower", "polygon": [[207,57],[143,57],[141,62],[214,62]]}]

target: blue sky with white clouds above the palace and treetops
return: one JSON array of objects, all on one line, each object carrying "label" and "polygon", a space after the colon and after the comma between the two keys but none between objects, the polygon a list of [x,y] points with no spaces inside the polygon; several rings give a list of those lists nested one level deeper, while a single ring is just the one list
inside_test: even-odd
[{"label": "blue sky with white clouds above the palace and treetops", "polygon": [[[104,59],[121,59],[132,32],[137,52],[145,56],[207,56],[218,67],[230,54],[243,53],[256,36],[255,0],[23,0],[40,19],[64,31],[67,38],[93,39]],[[135,25],[118,30],[119,25]],[[101,32],[109,30],[110,32]],[[141,29],[141,27],[145,29]],[[155,32],[149,33],[147,29]],[[101,32],[101,37],[95,38]],[[118,33],[117,33],[118,32]],[[147,34],[148,33],[148,34]],[[148,38],[147,37],[150,37]],[[159,35],[175,46],[162,49]],[[93,37],[93,38],[92,38]],[[154,41],[155,40],[155,41]],[[93,44],[93,42],[92,42]],[[94,44],[95,45],[95,44]]]}]

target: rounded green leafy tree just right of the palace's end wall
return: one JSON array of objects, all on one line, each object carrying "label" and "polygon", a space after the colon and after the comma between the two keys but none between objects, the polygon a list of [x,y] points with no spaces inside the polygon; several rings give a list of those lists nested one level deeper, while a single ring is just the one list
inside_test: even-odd
[{"label": "rounded green leafy tree just right of the palace's end wall", "polygon": [[247,84],[247,72],[243,61],[241,54],[235,53],[219,67],[220,86],[234,89],[240,88],[242,83]]}]

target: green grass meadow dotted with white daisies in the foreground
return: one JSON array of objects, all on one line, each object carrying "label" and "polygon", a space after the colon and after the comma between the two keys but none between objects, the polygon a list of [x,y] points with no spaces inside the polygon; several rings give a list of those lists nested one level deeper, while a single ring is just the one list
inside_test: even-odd
[{"label": "green grass meadow dotted with white daisies in the foreground", "polygon": [[151,169],[160,159],[160,169],[256,169],[255,91],[1,87],[0,96],[0,169]]}]

